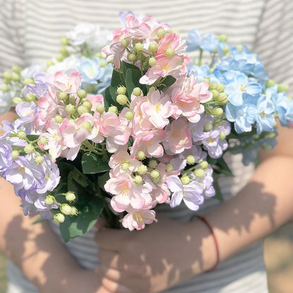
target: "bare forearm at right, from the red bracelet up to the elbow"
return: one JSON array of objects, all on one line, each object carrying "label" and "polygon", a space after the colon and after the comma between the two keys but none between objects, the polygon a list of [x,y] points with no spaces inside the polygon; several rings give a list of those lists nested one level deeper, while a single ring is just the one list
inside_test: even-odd
[{"label": "bare forearm at right, from the red bracelet up to the elbow", "polygon": [[292,217],[292,173],[293,158],[268,158],[237,197],[206,215],[218,240],[220,261],[262,239]]}]

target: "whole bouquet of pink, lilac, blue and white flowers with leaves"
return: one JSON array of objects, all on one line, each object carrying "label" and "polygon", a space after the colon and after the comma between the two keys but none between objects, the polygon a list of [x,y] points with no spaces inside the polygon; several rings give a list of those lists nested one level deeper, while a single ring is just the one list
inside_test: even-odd
[{"label": "whole bouquet of pink, lilac, blue and white flowers with leaves", "polygon": [[66,242],[99,217],[140,230],[159,204],[197,211],[232,175],[226,151],[255,161],[275,146],[277,118],[293,122],[287,86],[246,46],[121,18],[113,36],[77,26],[55,58],[4,73],[1,111],[14,105],[18,118],[0,127],[0,175]]}]

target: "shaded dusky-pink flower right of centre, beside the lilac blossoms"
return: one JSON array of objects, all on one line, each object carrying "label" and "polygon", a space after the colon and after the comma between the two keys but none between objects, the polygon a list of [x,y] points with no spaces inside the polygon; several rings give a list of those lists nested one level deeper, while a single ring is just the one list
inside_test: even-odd
[{"label": "shaded dusky-pink flower right of centre, beside the lilac blossoms", "polygon": [[185,118],[173,120],[166,127],[166,140],[163,142],[167,154],[180,154],[185,149],[192,147],[190,130],[187,129],[188,123]]}]

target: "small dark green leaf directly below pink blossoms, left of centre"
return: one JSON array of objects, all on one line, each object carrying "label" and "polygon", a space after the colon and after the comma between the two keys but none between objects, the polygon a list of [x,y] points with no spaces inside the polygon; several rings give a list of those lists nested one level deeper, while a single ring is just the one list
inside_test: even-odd
[{"label": "small dark green leaf directly below pink blossoms, left of centre", "polygon": [[96,174],[110,170],[101,156],[93,153],[85,153],[82,156],[82,171],[85,174]]}]

